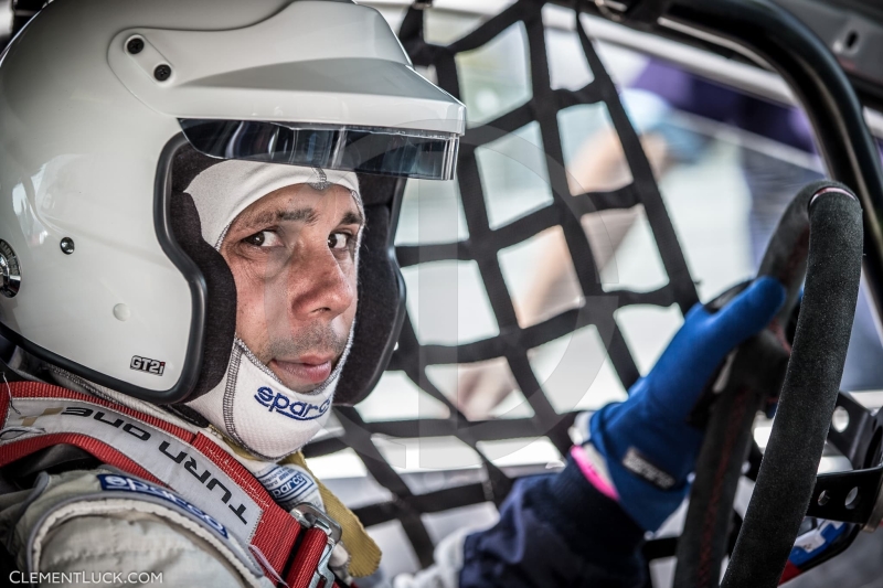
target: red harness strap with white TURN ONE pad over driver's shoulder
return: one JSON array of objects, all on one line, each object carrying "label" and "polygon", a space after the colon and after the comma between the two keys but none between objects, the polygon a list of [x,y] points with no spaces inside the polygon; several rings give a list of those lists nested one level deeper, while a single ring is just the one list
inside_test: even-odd
[{"label": "red harness strap with white TURN ONE pad over driver's shoulder", "polygon": [[[3,387],[7,387],[6,384]],[[284,585],[289,588],[319,586],[331,588],[328,585],[332,576],[327,571],[328,556],[332,545],[328,525],[315,525],[316,517],[313,516],[308,518],[299,516],[298,520],[281,509],[252,472],[203,434],[190,432],[131,408],[49,384],[15,382],[9,384],[3,392],[6,394],[0,394],[0,418],[2,419],[0,420],[0,430],[3,430],[4,434],[20,432],[20,436],[24,438],[12,440],[0,438],[0,467],[54,445],[76,446],[104,463],[181,493],[183,498],[213,516],[214,513],[220,512],[221,516],[234,520],[234,522],[240,520],[246,523],[246,517],[249,518],[251,527],[248,528],[252,531],[246,532],[246,535],[249,536],[244,538],[248,539],[251,547],[265,559],[259,563],[268,577],[285,578]],[[17,400],[20,402],[17,403]],[[29,400],[33,402],[29,404]],[[20,407],[25,409],[20,410]],[[64,425],[58,425],[62,423],[58,420],[61,416],[65,416],[68,421],[76,425],[79,424],[77,419],[79,417],[84,425],[87,425],[89,429],[95,429],[96,432],[121,435],[124,440],[131,442],[132,447],[139,447],[139,442],[145,441],[142,445],[145,450],[152,448],[156,451],[155,446],[166,439],[159,443],[159,451],[164,453],[164,457],[159,459],[168,458],[169,468],[183,466],[200,484],[206,484],[204,488],[208,490],[208,494],[194,496],[191,492],[188,495],[184,492],[185,489],[192,490],[192,487],[198,485],[202,490],[203,485],[196,484],[189,478],[184,478],[184,481],[190,480],[189,484],[175,483],[174,477],[164,473],[171,471],[164,467],[152,467],[153,471],[151,472],[149,463],[155,462],[145,459],[145,456],[124,453],[108,442],[106,436],[103,440],[102,435],[92,434],[91,430],[85,432],[83,430],[63,430]],[[10,420],[14,420],[19,426],[13,426]],[[52,427],[41,428],[43,424],[54,424],[56,430],[52,430]],[[7,429],[8,427],[9,429]],[[77,427],[72,428],[76,429]],[[170,440],[171,442],[178,441],[175,446],[182,445],[185,451],[175,452],[174,449],[170,449]],[[216,468],[214,477],[206,462],[211,462]],[[203,467],[205,471],[200,473],[199,470]],[[177,470],[181,470],[181,468],[177,468]],[[217,470],[222,473],[219,473]],[[234,506],[235,501],[230,500],[233,493],[223,481],[227,481],[231,485],[235,484],[234,488],[237,491],[244,491],[247,498],[243,496],[238,506]],[[212,492],[215,488],[223,492],[223,496],[217,492]],[[221,498],[208,502],[205,496]],[[220,504],[221,511],[217,510],[219,501],[223,501]],[[223,510],[224,505],[227,506],[227,510]],[[255,510],[258,512],[253,512]],[[255,520],[257,521],[256,525],[252,522]],[[305,530],[306,533],[304,533]],[[337,584],[334,586],[337,587]]]}]

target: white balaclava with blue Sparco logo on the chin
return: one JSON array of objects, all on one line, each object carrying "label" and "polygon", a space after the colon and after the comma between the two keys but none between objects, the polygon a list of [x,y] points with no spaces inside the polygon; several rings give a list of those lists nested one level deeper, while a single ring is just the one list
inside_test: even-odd
[{"label": "white balaclava with blue Sparco logo on the chin", "polygon": [[[342,185],[362,211],[355,173],[318,168],[226,160],[196,175],[185,191],[196,204],[203,238],[220,250],[230,225],[245,209],[270,192],[301,183],[320,191],[331,184]],[[360,229],[357,271],[361,234]],[[224,377],[187,404],[251,453],[279,460],[304,447],[328,419],[352,333],[351,328],[343,354],[328,379],[309,393],[286,387],[236,336]]]}]

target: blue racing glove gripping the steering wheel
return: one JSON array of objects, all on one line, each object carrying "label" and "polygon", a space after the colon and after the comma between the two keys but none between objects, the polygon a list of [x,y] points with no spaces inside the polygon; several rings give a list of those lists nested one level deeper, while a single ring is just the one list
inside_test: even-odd
[{"label": "blue racing glove gripping the steering wheel", "polygon": [[629,398],[592,416],[589,442],[606,461],[620,505],[643,530],[659,528],[687,495],[703,436],[688,416],[709,379],[784,300],[785,288],[764,277],[717,312],[694,306]]}]

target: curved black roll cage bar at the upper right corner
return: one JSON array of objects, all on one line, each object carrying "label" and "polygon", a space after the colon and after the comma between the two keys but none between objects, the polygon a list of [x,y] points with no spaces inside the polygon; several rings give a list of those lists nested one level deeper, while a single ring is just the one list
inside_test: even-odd
[{"label": "curved black roll cage bar at the upper right corner", "polygon": [[579,6],[626,26],[749,58],[785,79],[812,125],[828,173],[861,199],[863,270],[879,317],[883,309],[880,153],[852,83],[819,38],[784,8],[766,0],[596,0]]}]

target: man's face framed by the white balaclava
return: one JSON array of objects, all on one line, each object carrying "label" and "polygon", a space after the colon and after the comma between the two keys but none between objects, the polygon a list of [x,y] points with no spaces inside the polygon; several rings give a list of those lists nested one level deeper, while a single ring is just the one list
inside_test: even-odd
[{"label": "man's face framed by the white balaclava", "polygon": [[319,387],[343,353],[355,318],[362,223],[345,188],[297,184],[248,206],[224,237],[236,334],[294,391]]}]

